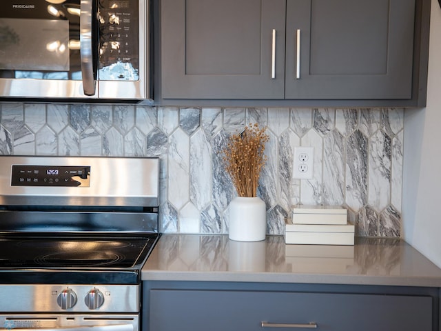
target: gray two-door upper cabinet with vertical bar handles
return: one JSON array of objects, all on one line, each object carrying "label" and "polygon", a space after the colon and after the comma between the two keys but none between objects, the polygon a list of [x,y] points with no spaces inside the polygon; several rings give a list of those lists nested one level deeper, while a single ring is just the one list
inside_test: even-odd
[{"label": "gray two-door upper cabinet with vertical bar handles", "polygon": [[429,0],[158,4],[155,99],[424,106]]}]

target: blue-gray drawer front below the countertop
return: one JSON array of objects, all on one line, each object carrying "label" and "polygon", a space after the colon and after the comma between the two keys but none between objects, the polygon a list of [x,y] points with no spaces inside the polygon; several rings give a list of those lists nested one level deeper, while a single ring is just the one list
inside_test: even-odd
[{"label": "blue-gray drawer front below the countertop", "polygon": [[[151,331],[252,331],[262,322],[317,330],[430,331],[431,297],[378,294],[152,290]],[[293,330],[276,328],[276,330]],[[305,330],[305,328],[298,328]]]}]

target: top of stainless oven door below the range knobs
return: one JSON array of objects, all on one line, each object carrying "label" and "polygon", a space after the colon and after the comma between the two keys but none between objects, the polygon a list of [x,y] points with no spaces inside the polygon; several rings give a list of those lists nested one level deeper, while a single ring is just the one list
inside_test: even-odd
[{"label": "top of stainless oven door below the range knobs", "polygon": [[0,330],[139,331],[138,314],[1,314]]}]

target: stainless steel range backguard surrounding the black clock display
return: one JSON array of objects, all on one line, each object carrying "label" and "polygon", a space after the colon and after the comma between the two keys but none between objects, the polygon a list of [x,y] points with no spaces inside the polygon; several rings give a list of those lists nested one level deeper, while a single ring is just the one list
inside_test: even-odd
[{"label": "stainless steel range backguard surrounding the black clock display", "polygon": [[[13,186],[11,165],[87,166],[87,187]],[[158,205],[158,159],[0,157],[0,205]]]}]

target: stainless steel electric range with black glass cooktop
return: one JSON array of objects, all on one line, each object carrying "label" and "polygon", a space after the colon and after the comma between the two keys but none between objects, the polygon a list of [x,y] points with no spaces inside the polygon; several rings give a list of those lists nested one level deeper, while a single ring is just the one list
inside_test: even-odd
[{"label": "stainless steel electric range with black glass cooktop", "polygon": [[138,331],[158,190],[156,158],[0,157],[0,329]]}]

